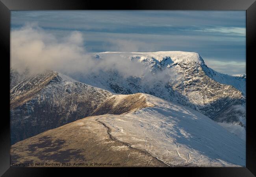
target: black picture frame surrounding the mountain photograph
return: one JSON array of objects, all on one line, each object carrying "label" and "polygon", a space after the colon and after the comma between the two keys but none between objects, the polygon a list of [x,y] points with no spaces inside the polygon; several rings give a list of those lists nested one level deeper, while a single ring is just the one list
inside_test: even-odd
[{"label": "black picture frame surrounding the mountain photograph", "polygon": [[[6,116],[1,120],[1,152],[0,152],[0,175],[3,176],[50,176],[52,172],[66,173],[67,170],[84,171],[89,168],[19,168],[10,167],[9,149],[10,133],[8,113],[8,94],[9,90],[8,65],[10,65],[10,11],[11,10],[246,10],[246,167],[245,168],[161,168],[161,170],[171,171],[172,174],[186,173],[193,176],[216,176],[216,177],[250,177],[256,175],[256,138],[255,138],[255,118],[253,116],[254,91],[253,59],[255,58],[254,49],[256,44],[256,2],[255,0],[131,0],[121,1],[102,1],[96,0],[0,0],[0,48],[2,50],[2,76],[6,84],[2,83],[5,92],[3,93],[2,111]],[[7,65],[7,66],[6,66]],[[4,87],[5,86],[5,87]],[[9,91],[8,91],[9,92]],[[93,168],[95,169],[95,168]],[[98,169],[98,168],[97,168]],[[101,168],[106,169],[106,168]],[[110,168],[108,168],[109,170]],[[111,168],[122,170],[124,168]],[[129,171],[131,168],[129,168]],[[138,168],[134,168],[138,170]],[[145,168],[143,168],[145,169]],[[148,172],[159,168],[147,168]],[[95,170],[99,171],[99,170]],[[128,173],[127,173],[128,174]]]}]

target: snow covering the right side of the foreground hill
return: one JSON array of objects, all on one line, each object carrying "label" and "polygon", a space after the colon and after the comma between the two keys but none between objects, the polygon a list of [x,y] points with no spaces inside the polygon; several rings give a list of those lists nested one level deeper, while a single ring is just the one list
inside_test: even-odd
[{"label": "snow covering the right side of the foreground hill", "polygon": [[245,142],[188,107],[143,94],[154,107],[98,120],[111,136],[169,166],[245,166]]}]

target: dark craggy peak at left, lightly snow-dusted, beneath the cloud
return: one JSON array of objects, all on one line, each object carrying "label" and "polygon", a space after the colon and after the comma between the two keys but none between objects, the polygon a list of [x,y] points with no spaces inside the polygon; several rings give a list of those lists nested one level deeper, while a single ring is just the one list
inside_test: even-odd
[{"label": "dark craggy peak at left, lightly snow-dusted, beneath the cloud", "polygon": [[109,96],[58,72],[30,76],[10,91],[11,144],[90,116]]}]

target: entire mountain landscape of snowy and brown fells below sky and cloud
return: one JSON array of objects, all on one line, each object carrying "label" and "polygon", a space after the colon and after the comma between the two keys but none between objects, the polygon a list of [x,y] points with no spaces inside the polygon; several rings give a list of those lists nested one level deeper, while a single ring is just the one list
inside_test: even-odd
[{"label": "entire mountain landscape of snowy and brown fells below sky and cloud", "polygon": [[13,163],[245,166],[245,75],[215,72],[193,52],[91,55],[140,74],[115,64],[74,79],[10,71]]}]

